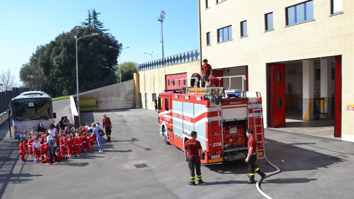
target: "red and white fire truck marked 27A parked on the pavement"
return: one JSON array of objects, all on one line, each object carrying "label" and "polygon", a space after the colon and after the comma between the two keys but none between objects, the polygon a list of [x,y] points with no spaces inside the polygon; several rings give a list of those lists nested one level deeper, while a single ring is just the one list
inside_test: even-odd
[{"label": "red and white fire truck marked 27A parked on the pavement", "polygon": [[184,151],[190,132],[198,133],[202,164],[246,158],[246,129],[257,140],[257,158],[264,158],[262,98],[259,92],[224,87],[164,90],[155,99],[159,132],[166,144]]}]

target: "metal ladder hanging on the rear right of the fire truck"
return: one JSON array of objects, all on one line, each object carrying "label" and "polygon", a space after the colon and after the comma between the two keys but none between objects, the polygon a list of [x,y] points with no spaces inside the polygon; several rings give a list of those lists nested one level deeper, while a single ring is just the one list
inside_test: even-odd
[{"label": "metal ladder hanging on the rear right of the fire truck", "polygon": [[[262,118],[263,118],[263,113],[262,113],[262,109],[259,106],[259,103],[257,101],[257,104],[254,103],[249,103],[251,105],[251,109],[252,109],[252,113],[253,113],[253,124],[255,125],[255,129],[254,129],[254,135],[256,136],[256,140],[257,140],[257,159],[262,159],[265,158],[264,157],[264,129],[263,129],[263,123],[262,123]],[[255,105],[255,106],[254,106]],[[255,111],[259,110],[259,116],[256,117],[256,113]],[[260,125],[257,125],[256,120],[259,121],[259,123],[261,123]],[[257,127],[261,127],[261,132],[257,132]],[[262,141],[260,141],[259,139],[257,139],[257,136],[261,135],[262,136]],[[258,144],[261,144],[263,146],[262,149],[258,149]],[[262,152],[261,155],[259,155]]]}]

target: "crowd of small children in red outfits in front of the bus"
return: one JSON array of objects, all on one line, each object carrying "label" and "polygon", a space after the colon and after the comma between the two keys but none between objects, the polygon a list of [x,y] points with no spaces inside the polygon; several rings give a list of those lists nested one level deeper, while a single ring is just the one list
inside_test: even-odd
[{"label": "crowd of small children in red outfits in front of the bus", "polygon": [[[97,123],[99,125],[99,123]],[[52,137],[56,142],[55,155],[57,160],[68,159],[80,156],[82,151],[91,151],[92,145],[97,142],[97,136],[92,134],[92,129],[87,124],[81,124],[79,129],[65,127],[59,130],[58,139]],[[49,146],[47,145],[47,136],[50,133],[33,132],[28,135],[28,131],[21,131],[19,140],[19,156],[22,162],[27,161],[25,155],[29,153],[30,157],[34,157],[34,163],[50,163]],[[67,152],[67,156],[65,156]],[[53,154],[54,155],[54,154]]]}]

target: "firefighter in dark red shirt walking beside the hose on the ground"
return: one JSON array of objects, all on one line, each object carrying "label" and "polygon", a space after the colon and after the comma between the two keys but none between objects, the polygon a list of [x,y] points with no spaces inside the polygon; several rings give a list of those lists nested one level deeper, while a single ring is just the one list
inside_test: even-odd
[{"label": "firefighter in dark red shirt walking beside the hose on the ground", "polygon": [[[250,173],[250,176],[249,176],[250,180],[247,181],[246,183],[247,184],[254,184],[254,183],[256,183],[255,171],[262,178],[265,177],[265,174],[256,166],[257,141],[256,141],[255,136],[253,136],[253,130],[247,129],[246,135],[248,137],[248,144],[247,144],[248,155],[246,158],[246,162],[248,163],[248,171]],[[257,167],[257,169],[256,169],[256,167]]]}]

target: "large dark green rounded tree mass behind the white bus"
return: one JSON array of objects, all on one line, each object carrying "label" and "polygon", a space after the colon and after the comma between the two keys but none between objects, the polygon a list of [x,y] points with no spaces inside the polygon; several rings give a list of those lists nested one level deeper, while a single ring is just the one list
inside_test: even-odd
[{"label": "large dark green rounded tree mass behind the white bus", "polygon": [[[80,27],[78,37],[92,35],[94,27]],[[23,64],[20,79],[25,86],[57,96],[76,93],[76,27],[39,46]],[[119,50],[112,50],[113,46]],[[122,44],[111,34],[78,40],[79,91],[84,92],[116,83],[117,57]]]}]

